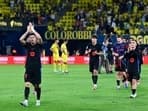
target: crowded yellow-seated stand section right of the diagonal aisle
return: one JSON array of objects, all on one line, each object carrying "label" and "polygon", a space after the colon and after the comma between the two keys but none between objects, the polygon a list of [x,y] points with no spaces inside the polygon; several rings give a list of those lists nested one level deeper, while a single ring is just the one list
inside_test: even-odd
[{"label": "crowded yellow-seated stand section right of the diagonal aisle", "polygon": [[103,24],[103,29],[113,27],[118,34],[140,34],[148,24],[147,4],[146,0],[78,0],[56,25],[64,30],[95,30]]}]

